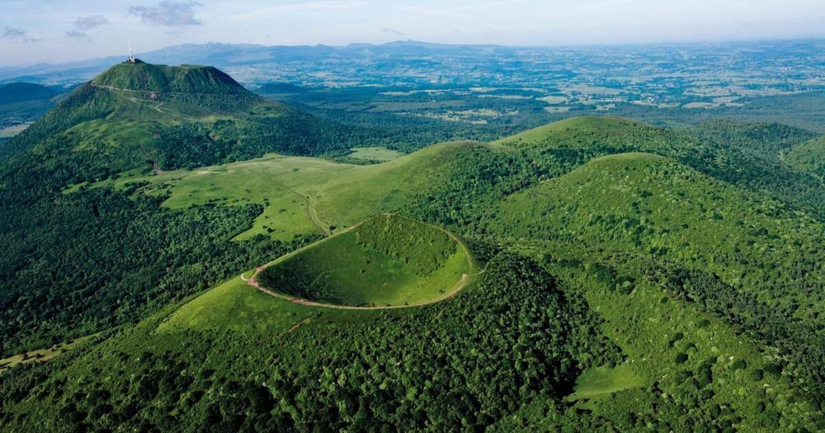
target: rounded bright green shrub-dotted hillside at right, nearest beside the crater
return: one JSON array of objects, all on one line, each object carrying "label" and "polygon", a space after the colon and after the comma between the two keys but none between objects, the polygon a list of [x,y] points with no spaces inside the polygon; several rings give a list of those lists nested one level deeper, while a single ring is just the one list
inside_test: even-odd
[{"label": "rounded bright green shrub-dotted hillside at right, nearest beside the crater", "polygon": [[671,159],[626,153],[594,159],[508,197],[491,210],[484,231],[515,242],[583,242],[719,275],[718,282],[711,276],[681,296],[785,353],[789,374],[809,391],[823,393],[818,384],[825,365],[817,341],[825,311],[825,257],[819,247],[825,226],[780,201]]}]

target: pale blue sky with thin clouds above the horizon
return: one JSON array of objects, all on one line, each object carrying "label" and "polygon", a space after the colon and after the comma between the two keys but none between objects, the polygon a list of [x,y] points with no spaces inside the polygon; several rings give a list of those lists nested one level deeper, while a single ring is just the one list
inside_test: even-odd
[{"label": "pale blue sky with thin clouds above the horizon", "polygon": [[0,0],[0,67],[206,42],[589,45],[825,37],[825,0]]}]

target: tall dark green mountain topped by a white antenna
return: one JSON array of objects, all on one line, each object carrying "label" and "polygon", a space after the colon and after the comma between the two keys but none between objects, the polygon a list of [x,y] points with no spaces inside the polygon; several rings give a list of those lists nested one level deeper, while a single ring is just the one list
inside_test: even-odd
[{"label": "tall dark green mountain topped by a white antenna", "polygon": [[74,180],[133,168],[169,170],[262,156],[346,153],[369,143],[361,129],[266,101],[204,66],[117,64],[12,139],[71,164]]}]

